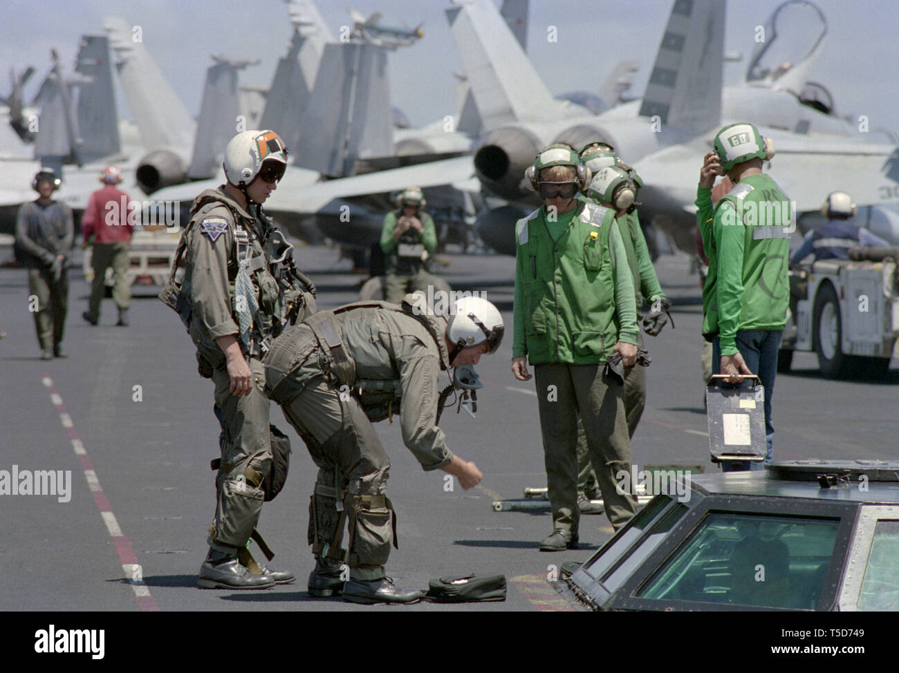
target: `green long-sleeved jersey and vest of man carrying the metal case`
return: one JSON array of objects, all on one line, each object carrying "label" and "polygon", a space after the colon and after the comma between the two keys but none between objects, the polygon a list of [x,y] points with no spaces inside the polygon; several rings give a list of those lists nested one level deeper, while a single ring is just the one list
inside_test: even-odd
[{"label": "green long-sleeved jersey and vest of man carrying the metal case", "polygon": [[763,173],[743,178],[715,208],[711,190],[700,187],[696,206],[709,261],[702,333],[718,334],[721,354],[734,355],[736,332],[787,323],[792,206]]}]

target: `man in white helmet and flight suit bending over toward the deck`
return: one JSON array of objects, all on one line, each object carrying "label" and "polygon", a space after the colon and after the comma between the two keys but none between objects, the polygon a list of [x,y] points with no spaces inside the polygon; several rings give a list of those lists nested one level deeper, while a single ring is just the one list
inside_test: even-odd
[{"label": "man in white helmet and flight suit bending over toward the deck", "polygon": [[385,573],[397,544],[396,512],[385,491],[390,461],[371,423],[398,414],[403,443],[425,471],[452,474],[463,489],[476,486],[481,471],[449,450],[437,425],[451,390],[439,394],[441,371],[476,365],[496,351],[503,330],[499,311],[482,297],[458,299],[442,317],[410,294],[401,305],[368,301],[322,311],[274,341],[267,392],[319,468],[309,505],[312,596],[343,594],[366,604],[421,597]]}]

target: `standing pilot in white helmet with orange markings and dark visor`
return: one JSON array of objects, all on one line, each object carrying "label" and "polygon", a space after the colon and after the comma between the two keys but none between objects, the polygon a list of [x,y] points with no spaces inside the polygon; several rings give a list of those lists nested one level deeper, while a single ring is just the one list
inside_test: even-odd
[{"label": "standing pilot in white helmet with orange markings and dark visor", "polygon": [[[266,589],[295,580],[257,564],[247,551],[263,508],[272,453],[263,358],[289,324],[315,311],[312,287],[293,266],[291,247],[263,202],[287,167],[287,147],[271,130],[238,133],[225,148],[227,182],[194,200],[172,274],[160,298],[180,314],[197,349],[200,376],[215,384],[221,424],[218,502],[205,589]],[[183,282],[176,279],[185,263]],[[304,287],[305,286],[305,287]],[[263,552],[270,552],[264,543]]]}]

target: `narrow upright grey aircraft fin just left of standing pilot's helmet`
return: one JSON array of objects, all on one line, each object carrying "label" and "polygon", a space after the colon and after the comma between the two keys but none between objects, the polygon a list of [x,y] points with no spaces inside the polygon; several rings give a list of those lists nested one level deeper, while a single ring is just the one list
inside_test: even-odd
[{"label": "narrow upright grey aircraft fin just left of standing pilot's helmet", "polygon": [[[221,165],[223,150],[236,132],[237,116],[241,111],[238,71],[251,65],[249,61],[212,58],[216,62],[206,71],[197,137],[193,142],[191,167],[187,170],[191,180],[211,178]],[[246,128],[253,127],[247,124]]]}]

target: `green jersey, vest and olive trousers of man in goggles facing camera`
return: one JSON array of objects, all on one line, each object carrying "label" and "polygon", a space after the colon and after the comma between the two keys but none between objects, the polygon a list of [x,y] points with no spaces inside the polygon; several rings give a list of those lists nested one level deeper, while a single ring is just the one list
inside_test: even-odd
[{"label": "green jersey, vest and olive trousers of man in goggles facing camera", "polygon": [[534,365],[553,524],[574,533],[578,414],[610,522],[619,527],[636,512],[636,498],[616,489],[616,474],[631,465],[624,385],[605,371],[616,342],[636,344],[638,336],[614,219],[609,208],[582,202],[556,240],[546,208],[516,226],[512,357]]}]

